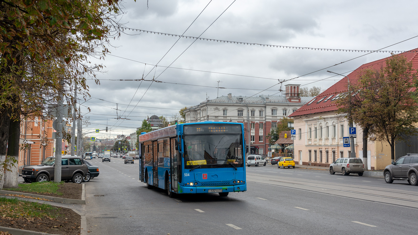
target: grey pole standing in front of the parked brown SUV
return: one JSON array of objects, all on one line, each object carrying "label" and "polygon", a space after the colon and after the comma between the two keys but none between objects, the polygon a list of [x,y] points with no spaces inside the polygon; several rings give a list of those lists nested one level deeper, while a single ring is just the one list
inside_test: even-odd
[{"label": "grey pole standing in front of the parked brown SUV", "polygon": [[58,89],[58,104],[56,107],[56,143],[55,143],[55,167],[54,167],[54,182],[61,182],[61,157],[62,157],[62,117],[63,114],[63,101],[64,101],[64,80],[61,78],[59,82],[60,86]]}]

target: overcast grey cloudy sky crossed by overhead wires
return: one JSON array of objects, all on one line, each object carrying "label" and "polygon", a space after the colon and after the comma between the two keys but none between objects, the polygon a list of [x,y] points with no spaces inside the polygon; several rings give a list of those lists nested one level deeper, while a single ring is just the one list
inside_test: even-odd
[{"label": "overcast grey cloudy sky crossed by overhead wires", "polygon": [[[326,70],[348,74],[364,63],[390,56],[388,52],[366,55],[367,52],[306,47],[385,51],[418,48],[418,37],[413,38],[418,35],[415,1],[236,0],[232,5],[233,0],[209,1],[149,0],[147,7],[147,0],[125,0],[120,23],[135,30],[124,30],[126,34],[112,41],[112,56],[93,61],[106,66],[106,72],[97,74],[100,85],[88,81],[92,99],[83,105],[89,106],[91,112],[85,114],[87,108],[82,106],[82,113],[90,118],[91,125],[84,131],[104,129],[107,125],[112,131],[97,137],[130,134],[147,116],[170,117],[184,106],[216,98],[217,81],[222,81],[220,87],[227,88],[219,89],[219,96],[253,96],[278,84],[278,79],[295,78],[283,85],[328,88],[342,77],[332,77]],[[192,37],[204,32],[201,38],[305,49],[195,41],[186,37],[178,40],[175,36],[137,29]],[[356,59],[324,69],[353,58]],[[318,72],[311,73],[314,71]],[[307,73],[311,74],[303,76]],[[111,81],[143,77],[161,82]],[[319,81],[324,78],[327,79]],[[273,95],[280,87],[278,84],[260,94]],[[126,119],[117,120],[116,115]]]}]

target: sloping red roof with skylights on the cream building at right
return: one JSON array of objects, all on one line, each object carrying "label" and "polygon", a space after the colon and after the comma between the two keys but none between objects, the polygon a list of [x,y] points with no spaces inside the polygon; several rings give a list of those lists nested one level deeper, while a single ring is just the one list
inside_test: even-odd
[{"label": "sloping red roof with skylights on the cream building at right", "polygon": [[[413,70],[418,69],[418,56],[417,56],[418,48],[410,50],[410,51],[406,51],[404,53],[400,53],[398,55],[405,56],[408,59],[408,61],[412,61]],[[373,61],[370,63],[365,63],[359,68],[357,68],[356,70],[354,70],[352,73],[347,75],[347,77],[350,79],[350,83],[357,82],[359,78],[359,73],[365,68],[378,70],[381,68],[381,66],[383,67],[386,66],[385,61],[387,60],[387,58],[383,58],[383,59]],[[316,96],[313,99],[314,100],[313,102],[312,100],[309,101],[307,104],[305,104],[304,106],[302,106],[301,108],[293,112],[291,115],[289,115],[289,117],[295,117],[295,116],[307,115],[307,114],[317,114],[317,113],[327,112],[327,111],[335,111],[338,109],[338,106],[335,104],[334,101],[331,101],[331,99],[333,99],[336,95],[340,93],[347,92],[347,90],[348,90],[347,78],[344,77],[340,81],[332,85],[330,88],[326,89],[324,92]],[[327,100],[329,99],[329,96],[331,95],[333,95],[331,99]]]}]

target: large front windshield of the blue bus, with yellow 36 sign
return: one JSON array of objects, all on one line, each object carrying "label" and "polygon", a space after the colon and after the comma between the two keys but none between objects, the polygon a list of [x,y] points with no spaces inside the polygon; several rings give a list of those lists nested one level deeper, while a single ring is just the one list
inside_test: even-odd
[{"label": "large front windshield of the blue bus, with yellow 36 sign", "polygon": [[185,128],[183,137],[185,169],[193,169],[198,165],[199,168],[243,166],[241,125],[219,124],[216,127],[190,125],[188,127],[191,129]]}]

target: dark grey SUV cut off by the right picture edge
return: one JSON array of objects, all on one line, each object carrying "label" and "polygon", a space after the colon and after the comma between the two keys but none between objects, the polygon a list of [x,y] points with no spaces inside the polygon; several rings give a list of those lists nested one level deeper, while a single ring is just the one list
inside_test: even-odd
[{"label": "dark grey SUV cut off by the right picture edge", "polygon": [[385,182],[391,184],[393,180],[408,180],[411,185],[417,185],[418,154],[407,154],[392,162],[383,171]]}]

